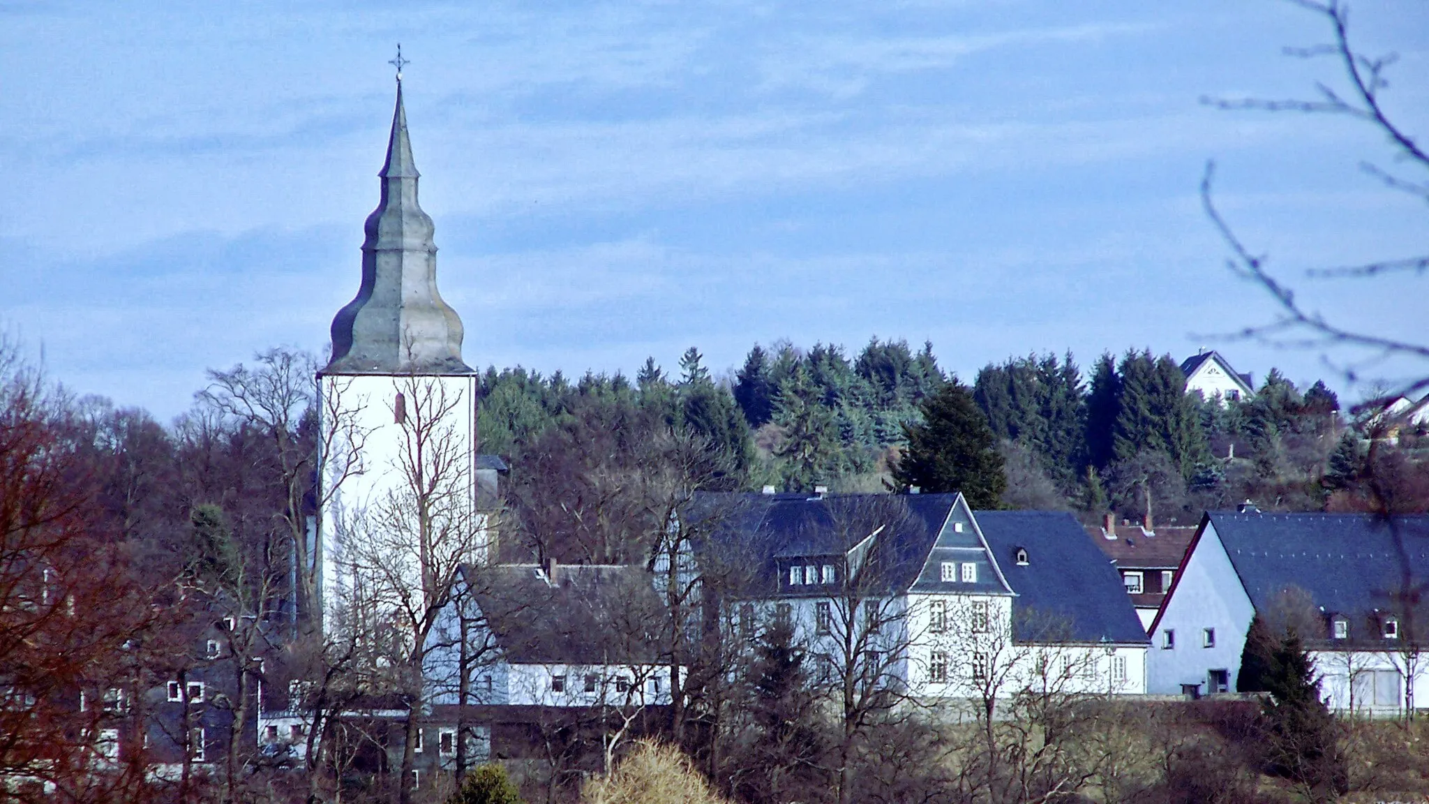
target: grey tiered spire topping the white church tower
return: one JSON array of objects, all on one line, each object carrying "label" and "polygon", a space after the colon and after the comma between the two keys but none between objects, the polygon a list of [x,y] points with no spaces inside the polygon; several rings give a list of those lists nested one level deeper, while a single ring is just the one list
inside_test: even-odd
[{"label": "grey tiered spire topping the white church tower", "polygon": [[323,373],[472,373],[462,362],[462,319],[437,293],[432,217],[417,205],[407,113],[397,74],[382,202],[367,216],[362,288],[333,319]]}]

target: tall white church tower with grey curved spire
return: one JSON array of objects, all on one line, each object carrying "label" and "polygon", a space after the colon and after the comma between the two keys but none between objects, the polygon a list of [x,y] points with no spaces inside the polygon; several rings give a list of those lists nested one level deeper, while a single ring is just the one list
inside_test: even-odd
[{"label": "tall white church tower with grey curved spire", "polygon": [[379,176],[362,285],[333,318],[332,361],[317,373],[320,511],[310,555],[324,628],[402,605],[432,592],[452,565],[484,559],[477,375],[462,361],[462,319],[437,292],[400,63]]}]

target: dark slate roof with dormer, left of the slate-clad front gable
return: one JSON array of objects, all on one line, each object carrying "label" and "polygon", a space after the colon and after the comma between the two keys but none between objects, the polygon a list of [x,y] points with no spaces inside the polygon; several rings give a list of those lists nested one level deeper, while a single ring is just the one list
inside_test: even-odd
[{"label": "dark slate roof with dormer, left of the slate-clad front gable", "polygon": [[[756,597],[783,594],[780,567],[789,559],[842,557],[872,529],[887,524],[873,539],[869,561],[883,564],[882,591],[892,594],[917,579],[956,501],[956,494],[706,494],[697,501],[694,515],[722,516],[714,539],[723,548],[743,551],[755,562],[750,594]],[[906,506],[907,514],[890,516],[883,506]],[[799,594],[827,594],[827,589]]]}]

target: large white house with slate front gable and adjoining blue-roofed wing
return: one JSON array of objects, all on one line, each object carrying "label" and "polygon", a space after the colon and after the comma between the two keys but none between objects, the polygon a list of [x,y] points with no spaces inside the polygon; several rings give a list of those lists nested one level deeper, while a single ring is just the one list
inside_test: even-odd
[{"label": "large white house with slate front gable and adjoining blue-roofed wing", "polygon": [[1039,674],[1145,691],[1145,631],[1070,515],[975,514],[959,494],[712,496],[739,511],[719,538],[755,568],[743,629],[787,619],[822,677],[925,700],[1007,697]]}]

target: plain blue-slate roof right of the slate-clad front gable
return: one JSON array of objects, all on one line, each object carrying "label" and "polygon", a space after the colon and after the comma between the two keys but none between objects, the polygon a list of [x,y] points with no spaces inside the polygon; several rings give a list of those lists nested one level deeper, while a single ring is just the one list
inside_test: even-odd
[{"label": "plain blue-slate roof right of the slate-clad front gable", "polygon": [[[977,525],[1012,591],[1019,639],[1040,632],[1072,642],[1145,644],[1122,578],[1070,515],[1050,511],[976,511]],[[1027,551],[1019,567],[1017,549]],[[1049,631],[1050,625],[1050,631]]]}]

